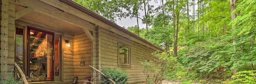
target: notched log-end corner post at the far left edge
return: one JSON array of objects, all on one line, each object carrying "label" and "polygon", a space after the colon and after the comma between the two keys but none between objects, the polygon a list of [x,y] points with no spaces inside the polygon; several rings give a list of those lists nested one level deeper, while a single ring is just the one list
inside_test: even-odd
[{"label": "notched log-end corner post at the far left edge", "polygon": [[1,0],[1,50],[0,50],[0,75],[3,79],[7,77],[8,56],[8,0]]}]

